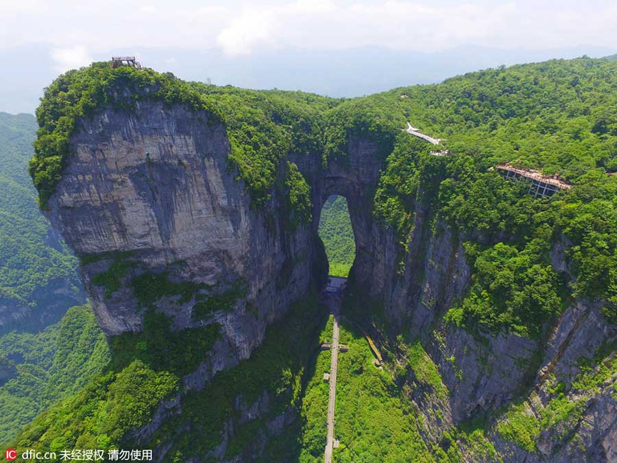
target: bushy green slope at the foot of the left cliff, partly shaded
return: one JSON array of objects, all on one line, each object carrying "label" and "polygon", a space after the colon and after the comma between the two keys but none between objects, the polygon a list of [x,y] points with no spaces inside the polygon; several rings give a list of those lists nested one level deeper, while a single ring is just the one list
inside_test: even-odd
[{"label": "bushy green slope at the foot of the left cliff, partly shaded", "polygon": [[81,381],[71,388],[79,392],[37,416],[12,445],[40,451],[120,447],[129,431],[149,423],[162,399],[178,391],[180,377],[208,359],[218,339],[217,324],[172,331],[165,315],[147,309],[143,332],[111,337],[103,372],[97,373],[99,363],[84,377],[85,387],[77,388]]}]

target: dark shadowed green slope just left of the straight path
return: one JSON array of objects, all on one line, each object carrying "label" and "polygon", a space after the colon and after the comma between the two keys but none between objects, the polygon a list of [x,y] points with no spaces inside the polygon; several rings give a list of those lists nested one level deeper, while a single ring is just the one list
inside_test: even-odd
[{"label": "dark shadowed green slope just left of the straight path", "polygon": [[[268,412],[239,427],[229,444],[228,455],[237,455],[263,436],[263,423],[289,407],[300,407],[306,364],[319,340],[319,326],[324,311],[317,296],[295,304],[284,320],[267,329],[263,344],[251,355],[217,375],[202,391],[191,391],[182,397],[182,414],[171,416],[162,423],[150,444],[172,444],[168,455],[172,462],[182,462],[195,455],[206,455],[221,443],[223,424],[239,416],[239,406],[251,407],[267,396]],[[240,405],[239,405],[240,404]],[[298,451],[294,433],[285,440],[285,453]],[[272,455],[274,461],[285,455]],[[273,461],[273,460],[270,460]]]}]

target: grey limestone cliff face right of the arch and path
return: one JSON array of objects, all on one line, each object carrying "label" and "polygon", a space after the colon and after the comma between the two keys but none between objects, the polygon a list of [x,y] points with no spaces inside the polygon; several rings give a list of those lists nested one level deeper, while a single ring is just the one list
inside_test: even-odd
[{"label": "grey limestone cliff face right of the arch and path", "polygon": [[[547,327],[551,333],[547,340],[505,332],[476,336],[446,324],[442,316],[470,285],[471,270],[461,247],[466,237],[452,233],[439,220],[429,222],[428,213],[426,205],[415,204],[408,252],[391,230],[375,226],[367,239],[372,247],[366,257],[374,266],[354,268],[355,276],[372,281],[365,287],[370,288],[370,296],[383,301],[388,318],[404,326],[411,338],[422,341],[448,390],[444,398],[417,383],[413,373],[407,379],[415,385],[408,393],[424,416],[426,440],[440,444],[444,429],[487,416],[496,454],[481,457],[463,447],[468,462],[617,460],[616,379],[609,376],[590,390],[572,387],[581,363],[617,341],[617,327],[601,315],[603,302],[574,300],[555,326]],[[564,239],[555,244],[551,263],[557,272],[569,274],[566,246]],[[541,417],[541,409],[560,398],[555,392],[559,383],[564,384],[566,398],[577,404],[578,412],[543,429],[538,451],[525,451],[500,436],[496,425],[507,418],[498,415],[499,410],[523,399],[527,413]]]}]

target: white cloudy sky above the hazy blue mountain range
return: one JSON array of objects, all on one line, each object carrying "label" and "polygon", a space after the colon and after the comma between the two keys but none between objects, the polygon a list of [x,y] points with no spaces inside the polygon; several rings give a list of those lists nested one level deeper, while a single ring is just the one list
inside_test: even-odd
[{"label": "white cloudy sky above the hazy blue mountain range", "polygon": [[127,45],[217,48],[227,56],[260,47],[612,46],[616,24],[617,2],[597,0],[0,0],[0,49],[50,45],[64,71]]}]

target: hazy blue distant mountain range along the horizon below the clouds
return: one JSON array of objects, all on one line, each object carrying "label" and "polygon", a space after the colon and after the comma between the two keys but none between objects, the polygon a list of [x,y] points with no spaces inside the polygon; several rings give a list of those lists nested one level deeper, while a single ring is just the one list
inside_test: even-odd
[{"label": "hazy blue distant mountain range along the horizon below the clouds", "polygon": [[[94,54],[108,60],[116,54],[136,55],[144,66],[170,71],[184,80],[245,88],[280,88],[334,97],[354,97],[397,86],[431,84],[453,75],[511,64],[607,56],[615,49],[579,46],[564,49],[490,49],[459,47],[435,53],[383,47],[340,50],[260,49],[247,56],[230,57],[219,49],[161,49],[127,47]],[[0,110],[34,112],[43,88],[58,75],[49,45],[0,49],[0,60],[10,63],[3,72]],[[87,63],[84,63],[87,64]]]}]

